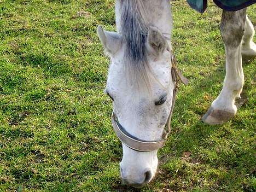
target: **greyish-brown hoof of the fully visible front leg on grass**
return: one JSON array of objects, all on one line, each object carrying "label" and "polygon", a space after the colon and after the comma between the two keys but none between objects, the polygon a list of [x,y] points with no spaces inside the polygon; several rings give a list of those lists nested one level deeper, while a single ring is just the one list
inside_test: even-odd
[{"label": "greyish-brown hoof of the fully visible front leg on grass", "polygon": [[228,122],[234,116],[235,113],[227,112],[225,110],[214,110],[210,107],[201,120],[203,123],[209,125],[221,125]]}]

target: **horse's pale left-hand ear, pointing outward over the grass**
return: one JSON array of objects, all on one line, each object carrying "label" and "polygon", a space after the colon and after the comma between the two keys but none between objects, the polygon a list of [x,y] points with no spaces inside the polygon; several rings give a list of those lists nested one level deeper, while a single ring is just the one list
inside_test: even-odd
[{"label": "horse's pale left-hand ear, pointing outward over the grass", "polygon": [[104,51],[109,56],[113,56],[118,51],[121,45],[119,34],[117,32],[104,31],[101,25],[97,27],[97,34],[104,47]]}]

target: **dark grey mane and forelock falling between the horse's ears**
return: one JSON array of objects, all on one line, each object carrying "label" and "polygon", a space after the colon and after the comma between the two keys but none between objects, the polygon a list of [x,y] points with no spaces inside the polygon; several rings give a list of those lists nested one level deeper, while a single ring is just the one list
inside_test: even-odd
[{"label": "dark grey mane and forelock falling between the horse's ears", "polygon": [[120,0],[120,34],[125,44],[125,69],[138,83],[148,82],[149,66],[147,61],[146,40],[148,27],[146,14],[141,0]]}]

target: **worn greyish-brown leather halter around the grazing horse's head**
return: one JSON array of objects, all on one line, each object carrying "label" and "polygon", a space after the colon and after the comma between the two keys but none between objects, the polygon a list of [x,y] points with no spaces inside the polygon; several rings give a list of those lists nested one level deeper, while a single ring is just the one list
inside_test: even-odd
[{"label": "worn greyish-brown leather halter around the grazing horse's head", "polygon": [[172,117],[172,112],[173,112],[175,98],[176,98],[176,92],[177,92],[177,84],[178,84],[177,78],[179,78],[183,84],[185,84],[185,85],[188,84],[188,79],[186,79],[183,76],[183,74],[176,67],[176,60],[174,58],[173,51],[171,51],[171,65],[172,65],[172,68],[171,68],[172,81],[174,84],[174,89],[173,89],[173,93],[172,93],[172,106],[171,106],[171,110],[170,110],[168,119],[165,124],[164,131],[162,133],[161,140],[145,141],[143,139],[139,139],[135,136],[132,136],[118,122],[118,118],[114,114],[114,110],[113,110],[111,121],[112,121],[112,125],[113,125],[115,133],[117,134],[117,136],[121,142],[123,142],[127,147],[129,147],[133,150],[136,150],[138,152],[152,152],[153,150],[160,149],[160,148],[164,147],[167,137],[168,137],[169,133],[171,132],[171,117]]}]

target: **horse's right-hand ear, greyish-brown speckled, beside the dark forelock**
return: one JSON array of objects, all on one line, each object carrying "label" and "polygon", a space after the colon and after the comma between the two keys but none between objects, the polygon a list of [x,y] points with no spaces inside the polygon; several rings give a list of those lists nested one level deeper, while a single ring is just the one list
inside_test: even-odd
[{"label": "horse's right-hand ear, greyish-brown speckled, beside the dark forelock", "polygon": [[166,39],[156,27],[149,27],[148,47],[149,51],[152,51],[155,56],[160,56],[166,50]]}]

